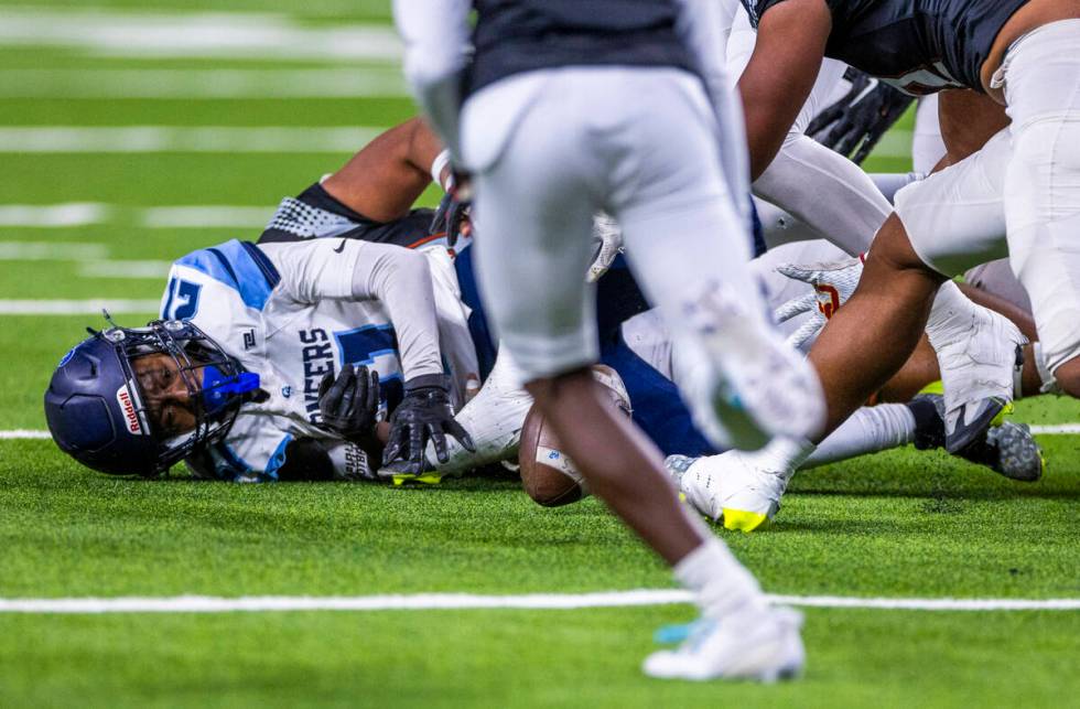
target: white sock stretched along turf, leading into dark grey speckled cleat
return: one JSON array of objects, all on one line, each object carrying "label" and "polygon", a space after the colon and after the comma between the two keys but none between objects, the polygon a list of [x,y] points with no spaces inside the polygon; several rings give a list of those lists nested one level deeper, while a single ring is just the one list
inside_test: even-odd
[{"label": "white sock stretched along turf, leading into dark grey speckled cleat", "polygon": [[818,444],[802,470],[906,445],[914,440],[915,415],[907,406],[864,406]]}]

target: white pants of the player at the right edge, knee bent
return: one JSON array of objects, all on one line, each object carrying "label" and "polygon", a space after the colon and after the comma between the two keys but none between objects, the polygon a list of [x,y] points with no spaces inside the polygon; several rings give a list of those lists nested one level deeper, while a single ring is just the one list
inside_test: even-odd
[{"label": "white pants of the player at the right edge, knee bent", "polygon": [[1080,356],[1080,20],[1014,43],[995,74],[1012,125],[911,184],[896,211],[946,276],[1006,254],[1032,299],[1046,365]]}]

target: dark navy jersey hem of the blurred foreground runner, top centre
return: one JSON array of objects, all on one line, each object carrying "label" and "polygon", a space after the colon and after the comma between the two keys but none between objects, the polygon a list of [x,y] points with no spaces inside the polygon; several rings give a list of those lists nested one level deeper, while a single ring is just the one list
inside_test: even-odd
[{"label": "dark navy jersey hem of the blurred foreground runner, top centre", "polygon": [[672,0],[474,0],[467,88],[559,66],[690,69]]}]

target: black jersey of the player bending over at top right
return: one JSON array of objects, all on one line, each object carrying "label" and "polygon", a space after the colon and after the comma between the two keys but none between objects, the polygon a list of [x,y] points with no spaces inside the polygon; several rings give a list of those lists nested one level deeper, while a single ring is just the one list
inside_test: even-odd
[{"label": "black jersey of the player bending over at top right", "polygon": [[[784,0],[742,0],[756,26]],[[832,33],[825,56],[921,96],[943,88],[982,92],[980,69],[1005,22],[1027,0],[825,0]]]}]

